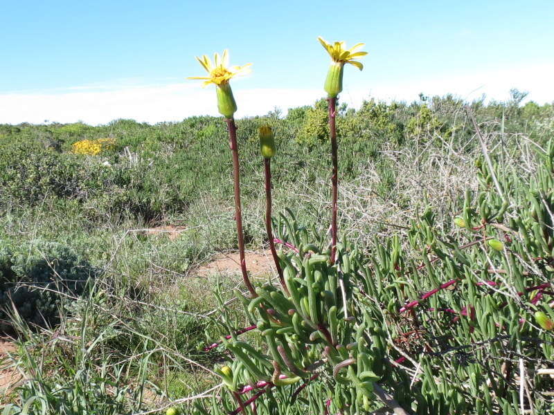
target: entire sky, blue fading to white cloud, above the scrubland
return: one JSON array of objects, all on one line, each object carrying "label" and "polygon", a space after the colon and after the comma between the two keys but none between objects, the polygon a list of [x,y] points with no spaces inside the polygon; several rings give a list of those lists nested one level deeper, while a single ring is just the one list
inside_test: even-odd
[{"label": "entire sky, blue fading to white cloud, above the scrubland", "polygon": [[342,99],[419,92],[554,100],[554,1],[1,2],[0,122],[157,122],[217,115],[195,55],[251,62],[233,80],[238,116],[310,104],[328,55],[316,41],[366,43]]}]

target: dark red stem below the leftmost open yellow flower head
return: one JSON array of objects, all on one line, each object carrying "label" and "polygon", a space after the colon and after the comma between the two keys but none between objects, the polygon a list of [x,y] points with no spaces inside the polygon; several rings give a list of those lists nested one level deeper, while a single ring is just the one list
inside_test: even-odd
[{"label": "dark red stem below the leftmost open yellow flower head", "polygon": [[240,270],[242,271],[242,279],[246,284],[248,291],[252,297],[258,297],[254,287],[250,283],[247,271],[247,263],[244,259],[244,233],[242,232],[242,211],[240,208],[240,165],[238,161],[238,145],[237,145],[237,126],[234,118],[225,118],[227,129],[229,130],[229,147],[233,154],[233,186],[235,190],[235,221],[237,223],[238,250],[240,255]]}]

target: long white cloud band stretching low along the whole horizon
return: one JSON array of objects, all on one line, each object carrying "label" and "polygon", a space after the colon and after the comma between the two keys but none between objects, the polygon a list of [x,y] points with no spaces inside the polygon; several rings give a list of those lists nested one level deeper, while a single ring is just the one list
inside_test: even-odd
[{"label": "long white cloud band stretching low along the whole horizon", "polygon": [[[508,91],[516,87],[529,91],[529,99],[539,103],[554,100],[551,74],[554,64],[500,68],[497,71],[475,71],[467,75],[443,75],[420,80],[375,77],[372,84],[346,88],[341,100],[358,107],[370,95],[382,100],[412,101],[420,92],[426,95],[453,93],[465,100],[479,98],[508,99]],[[319,89],[244,89],[235,84],[237,117],[262,115],[279,107],[312,104],[324,93]],[[105,124],[116,118],[132,118],[139,122],[182,120],[195,115],[217,116],[215,91],[198,84],[184,82],[164,85],[136,85],[121,82],[114,85],[73,86],[65,91],[13,92],[0,94],[0,123],[75,122]]]}]

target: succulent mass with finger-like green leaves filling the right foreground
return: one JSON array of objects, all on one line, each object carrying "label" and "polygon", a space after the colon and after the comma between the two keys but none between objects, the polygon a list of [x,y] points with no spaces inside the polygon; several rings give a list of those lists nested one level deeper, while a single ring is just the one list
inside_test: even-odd
[{"label": "succulent mass with finger-like green leaves filling the right foreground", "polygon": [[231,394],[211,413],[233,412],[238,393],[258,413],[277,401],[278,413],[359,414],[379,407],[381,389],[406,413],[554,410],[553,381],[540,375],[554,360],[552,142],[539,157],[525,181],[480,160],[459,230],[436,229],[426,210],[409,246],[376,241],[368,257],[341,243],[335,265],[321,234],[280,216],[286,286],[241,296],[267,347],[228,327],[232,358],[218,373]]}]

